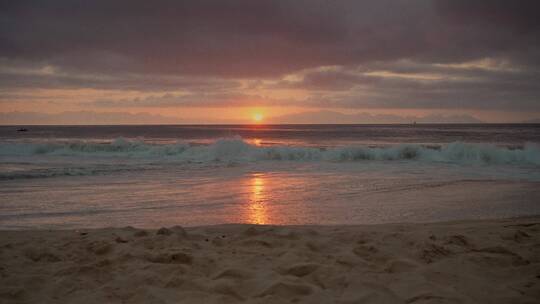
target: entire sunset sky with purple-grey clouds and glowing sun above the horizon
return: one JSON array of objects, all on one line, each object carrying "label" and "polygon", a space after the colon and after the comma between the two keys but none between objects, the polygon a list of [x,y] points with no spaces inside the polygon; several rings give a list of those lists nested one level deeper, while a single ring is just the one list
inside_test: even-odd
[{"label": "entire sunset sky with purple-grey clouds and glowing sun above the horizon", "polygon": [[0,0],[0,124],[540,118],[540,1]]}]

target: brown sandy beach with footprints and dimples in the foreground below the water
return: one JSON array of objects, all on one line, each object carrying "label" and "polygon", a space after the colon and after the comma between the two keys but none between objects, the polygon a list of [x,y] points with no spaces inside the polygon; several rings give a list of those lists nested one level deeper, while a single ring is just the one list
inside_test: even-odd
[{"label": "brown sandy beach with footprints and dimples in the foreground below the water", "polygon": [[0,232],[2,303],[538,303],[540,217]]}]

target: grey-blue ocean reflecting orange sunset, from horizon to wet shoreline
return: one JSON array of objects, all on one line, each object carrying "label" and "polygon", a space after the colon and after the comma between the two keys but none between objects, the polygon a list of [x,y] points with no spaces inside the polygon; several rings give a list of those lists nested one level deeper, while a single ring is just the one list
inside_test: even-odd
[{"label": "grey-blue ocean reflecting orange sunset, from horizon to wet shoreline", "polygon": [[0,127],[0,229],[540,214],[540,125]]}]

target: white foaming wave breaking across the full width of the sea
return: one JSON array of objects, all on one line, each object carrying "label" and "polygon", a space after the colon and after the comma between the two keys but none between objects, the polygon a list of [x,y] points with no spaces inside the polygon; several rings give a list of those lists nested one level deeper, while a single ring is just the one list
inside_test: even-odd
[{"label": "white foaming wave breaking across the full width of the sea", "polygon": [[241,138],[220,139],[209,145],[186,142],[150,144],[118,138],[109,143],[85,141],[0,143],[0,156],[84,156],[151,158],[193,162],[216,161],[429,161],[451,163],[540,165],[540,146],[522,148],[453,142],[440,146],[399,144],[389,147],[345,146],[335,148],[257,146]]}]

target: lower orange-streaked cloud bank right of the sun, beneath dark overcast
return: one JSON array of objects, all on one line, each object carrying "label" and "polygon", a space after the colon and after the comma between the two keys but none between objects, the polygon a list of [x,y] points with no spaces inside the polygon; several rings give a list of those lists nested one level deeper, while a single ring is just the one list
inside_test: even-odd
[{"label": "lower orange-streaked cloud bank right of the sun, beneath dark overcast", "polygon": [[306,106],[540,111],[540,71],[504,61],[411,61],[304,70],[273,87],[309,90]]}]

